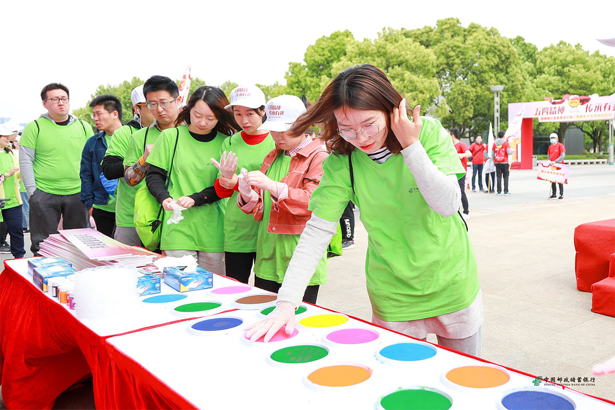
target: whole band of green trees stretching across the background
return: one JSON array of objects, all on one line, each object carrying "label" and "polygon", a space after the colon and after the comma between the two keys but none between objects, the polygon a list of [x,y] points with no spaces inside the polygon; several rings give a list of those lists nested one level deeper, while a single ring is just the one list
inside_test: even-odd
[{"label": "whole band of green trees stretching across the background", "polygon": [[[280,94],[303,94],[315,101],[343,69],[370,63],[382,69],[411,108],[421,104],[421,114],[440,119],[445,127],[457,127],[474,141],[485,135],[493,120],[490,85],[504,85],[500,93],[501,129],[506,129],[508,103],[561,98],[566,93],[610,95],[615,92],[615,57],[590,54],[581,45],[566,42],[539,50],[521,36],[507,38],[496,28],[476,23],[467,27],[458,18],[438,20],[435,26],[383,28],[375,39],[354,38],[351,31],[335,31],[307,47],[303,61],[288,63],[286,84],[256,84],[267,100]],[[119,85],[101,85],[92,96],[113,93],[124,105],[124,121],[130,118],[130,91],[142,81],[133,77]],[[191,90],[205,82],[195,77]],[[232,80],[220,85],[229,95],[237,86]],[[90,109],[77,116],[90,120]],[[535,121],[537,133],[557,131],[560,138],[572,123]],[[603,125],[587,125],[584,132],[601,145]]]}]

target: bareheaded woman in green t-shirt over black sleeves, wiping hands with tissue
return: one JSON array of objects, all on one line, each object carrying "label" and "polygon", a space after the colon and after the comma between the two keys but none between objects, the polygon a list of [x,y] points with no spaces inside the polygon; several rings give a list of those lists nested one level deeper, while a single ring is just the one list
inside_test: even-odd
[{"label": "bareheaded woman in green t-shirt over black sleeves, wiping hands with tissue", "polygon": [[[218,170],[206,159],[220,156],[223,141],[238,128],[229,101],[218,87],[199,87],[175,120],[163,130],[149,156],[145,183],[162,204],[160,249],[167,256],[192,255],[199,266],[224,275],[224,208],[226,199],[213,186]],[[170,173],[170,183],[165,182]],[[167,224],[173,206],[179,223]]]}]

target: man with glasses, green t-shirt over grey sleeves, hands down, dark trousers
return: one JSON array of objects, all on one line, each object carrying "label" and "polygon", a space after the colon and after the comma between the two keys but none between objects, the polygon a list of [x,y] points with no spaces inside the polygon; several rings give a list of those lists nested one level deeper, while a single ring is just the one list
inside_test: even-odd
[{"label": "man with glasses, green t-shirt over grey sleeves, hands down, dark trousers", "polygon": [[19,166],[30,197],[30,250],[38,256],[39,244],[58,230],[87,227],[87,210],[79,199],[79,164],[92,127],[68,113],[66,85],[48,84],[41,90],[46,114],[30,122],[19,141]]}]

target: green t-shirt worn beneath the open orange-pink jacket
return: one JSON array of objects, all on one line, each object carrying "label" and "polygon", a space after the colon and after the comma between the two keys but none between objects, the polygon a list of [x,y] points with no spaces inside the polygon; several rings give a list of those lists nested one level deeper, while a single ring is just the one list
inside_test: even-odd
[{"label": "green t-shirt worn beneath the open orange-pink jacket", "polygon": [[[284,151],[280,152],[267,170],[267,176],[274,181],[280,181],[288,175],[291,159],[291,157],[284,155]],[[293,252],[295,252],[301,235],[272,234],[267,232],[269,217],[271,216],[271,203],[271,195],[269,195],[268,191],[263,191],[263,221],[261,221],[258,227],[254,274],[261,279],[282,283],[288,263],[293,256]],[[308,286],[322,285],[323,283],[327,283],[326,253],[323,254],[322,259],[318,262],[316,272],[309,281]]]}]

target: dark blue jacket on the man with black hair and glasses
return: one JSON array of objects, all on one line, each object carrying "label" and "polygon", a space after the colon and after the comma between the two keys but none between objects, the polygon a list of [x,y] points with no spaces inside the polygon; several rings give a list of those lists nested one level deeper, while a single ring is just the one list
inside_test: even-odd
[{"label": "dark blue jacket on the man with black hair and glasses", "polygon": [[[92,208],[92,204],[106,205],[109,202],[109,192],[106,191],[100,175],[103,171],[101,162],[107,151],[105,132],[91,136],[81,153],[81,202],[85,208]],[[115,180],[117,182],[117,180]]]}]

